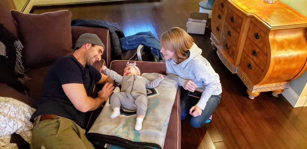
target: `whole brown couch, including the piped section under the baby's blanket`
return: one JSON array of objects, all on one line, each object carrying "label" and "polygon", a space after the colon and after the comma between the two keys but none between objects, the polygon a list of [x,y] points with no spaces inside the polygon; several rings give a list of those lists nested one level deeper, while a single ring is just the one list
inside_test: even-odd
[{"label": "whole brown couch, including the piped section under the baby's blanket", "polygon": [[[18,28],[16,27],[15,20],[13,16],[10,14],[10,10],[15,9],[15,5],[13,3],[13,0],[1,0],[0,1],[0,23],[4,24],[4,27],[6,27],[10,32],[12,32],[16,37],[20,39],[20,32],[18,31]],[[31,32],[35,32],[36,30],[33,30]],[[97,34],[102,42],[105,45],[105,51],[102,55],[102,60],[100,62],[96,62],[94,64],[94,67],[99,69],[102,65],[110,66],[111,63],[111,47],[110,47],[110,36],[108,33],[108,30],[105,28],[91,28],[91,27],[77,27],[77,26],[71,26],[71,35],[72,35],[72,47],[74,47],[74,44],[78,37],[82,33],[95,33]],[[23,42],[21,40],[21,42]],[[24,43],[23,43],[24,44]],[[72,50],[73,52],[73,50]],[[69,54],[72,54],[69,53]],[[68,54],[68,55],[69,55]],[[64,56],[64,55],[63,55]],[[23,59],[27,58],[23,54]],[[124,66],[126,62],[125,61],[117,61],[115,64]],[[152,62],[141,62],[140,64],[144,72],[150,73],[150,72],[158,72],[161,74],[165,74],[165,64],[163,63],[152,63]],[[45,64],[39,67],[29,68],[25,71],[25,75],[31,78],[25,85],[29,88],[28,95],[24,95],[12,87],[7,86],[5,83],[0,83],[0,96],[3,97],[11,97],[18,99],[28,105],[30,105],[33,108],[36,108],[37,102],[41,96],[41,90],[43,81],[45,79],[45,76],[48,72],[48,70],[51,67],[51,63]],[[156,68],[156,69],[153,69]],[[117,70],[122,69],[121,67],[115,68]],[[97,96],[97,91],[99,91],[99,86],[95,87],[93,96]],[[179,94],[177,94],[179,96]],[[93,124],[95,118],[98,116],[102,108],[99,108],[95,111],[93,111],[93,116],[89,120],[89,127]],[[171,118],[169,122],[169,127],[166,134],[166,141],[165,141],[165,148],[180,148],[180,100],[177,98],[175,100],[174,106],[172,108]],[[88,128],[89,129],[89,128]],[[11,143],[17,143],[17,146],[21,149],[30,148],[29,144],[25,142],[19,135],[13,134],[11,137]]]}]

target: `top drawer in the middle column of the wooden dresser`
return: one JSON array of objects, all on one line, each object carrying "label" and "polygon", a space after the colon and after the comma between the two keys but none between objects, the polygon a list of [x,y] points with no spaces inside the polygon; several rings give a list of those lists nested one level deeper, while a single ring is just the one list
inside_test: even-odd
[{"label": "top drawer in the middle column of the wooden dresser", "polygon": [[226,22],[233,28],[236,32],[240,33],[243,19],[233,11],[231,5],[227,8]]}]

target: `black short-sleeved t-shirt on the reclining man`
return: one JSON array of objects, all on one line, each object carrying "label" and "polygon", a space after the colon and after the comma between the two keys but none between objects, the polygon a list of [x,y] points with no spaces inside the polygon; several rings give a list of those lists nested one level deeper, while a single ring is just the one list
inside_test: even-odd
[{"label": "black short-sleeved t-shirt on the reclining man", "polygon": [[54,114],[69,118],[84,129],[89,112],[77,110],[64,93],[62,85],[81,83],[87,96],[91,96],[95,83],[100,79],[101,74],[97,69],[93,66],[82,66],[73,55],[58,58],[46,75],[41,99],[31,121],[39,115]]}]

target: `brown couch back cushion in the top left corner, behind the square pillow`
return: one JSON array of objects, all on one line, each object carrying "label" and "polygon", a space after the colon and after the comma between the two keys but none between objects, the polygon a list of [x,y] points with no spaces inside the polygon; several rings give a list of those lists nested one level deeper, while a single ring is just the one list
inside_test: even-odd
[{"label": "brown couch back cushion in the top left corner, behind the square pillow", "polygon": [[10,14],[10,9],[14,6],[13,1],[1,0],[0,1],[0,23],[4,24],[15,37],[18,38],[17,28],[13,16]]}]

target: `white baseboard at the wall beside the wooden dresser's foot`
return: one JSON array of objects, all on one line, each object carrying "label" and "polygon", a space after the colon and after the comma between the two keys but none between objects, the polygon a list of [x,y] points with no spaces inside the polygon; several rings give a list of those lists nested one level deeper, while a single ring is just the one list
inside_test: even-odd
[{"label": "white baseboard at the wall beside the wooden dresser's foot", "polygon": [[282,95],[288,100],[288,102],[294,107],[307,106],[307,96],[299,97],[291,87],[285,89]]}]

